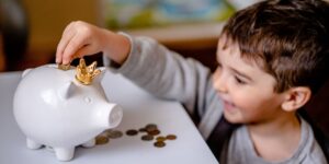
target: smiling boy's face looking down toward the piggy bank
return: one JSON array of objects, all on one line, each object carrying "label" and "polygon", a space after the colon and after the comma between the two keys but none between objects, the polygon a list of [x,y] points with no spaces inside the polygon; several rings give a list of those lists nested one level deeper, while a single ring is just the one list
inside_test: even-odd
[{"label": "smiling boy's face looking down toward the piggy bank", "polygon": [[271,121],[282,114],[283,94],[274,92],[275,79],[256,62],[240,57],[237,44],[224,49],[219,39],[214,87],[224,102],[225,118],[235,124]]}]

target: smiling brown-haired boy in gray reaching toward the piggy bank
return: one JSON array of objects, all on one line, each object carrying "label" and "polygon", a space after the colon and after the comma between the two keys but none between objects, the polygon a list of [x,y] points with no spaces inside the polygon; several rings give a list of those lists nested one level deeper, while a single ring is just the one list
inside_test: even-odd
[{"label": "smiling brown-haired boy in gray reaching toward the piggy bank", "polygon": [[[234,125],[225,144],[211,144],[220,163],[327,163],[297,110],[329,74],[329,5],[270,0],[237,12],[218,42],[218,68],[184,59],[147,37],[70,23],[57,63],[104,54],[105,66],[162,98],[181,102],[206,140],[220,139],[222,116]],[[220,121],[219,121],[220,120]],[[226,134],[226,133],[224,133]]]}]

